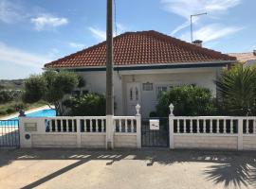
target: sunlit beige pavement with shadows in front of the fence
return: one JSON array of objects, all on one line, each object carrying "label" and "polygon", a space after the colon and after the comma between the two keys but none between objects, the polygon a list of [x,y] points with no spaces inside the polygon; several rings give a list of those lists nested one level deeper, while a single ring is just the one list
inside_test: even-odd
[{"label": "sunlit beige pavement with shadows in front of the fence", "polygon": [[0,149],[0,188],[256,188],[256,152]]}]

